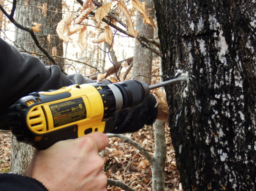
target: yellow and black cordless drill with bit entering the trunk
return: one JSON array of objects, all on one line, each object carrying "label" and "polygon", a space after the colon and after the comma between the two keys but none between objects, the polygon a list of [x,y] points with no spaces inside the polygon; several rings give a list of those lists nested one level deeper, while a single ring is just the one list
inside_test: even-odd
[{"label": "yellow and black cordless drill with bit entering the trunk", "polygon": [[105,121],[114,113],[139,105],[152,89],[184,80],[179,77],[152,86],[126,80],[35,92],[11,106],[9,126],[18,141],[46,149],[60,140],[104,132]]}]

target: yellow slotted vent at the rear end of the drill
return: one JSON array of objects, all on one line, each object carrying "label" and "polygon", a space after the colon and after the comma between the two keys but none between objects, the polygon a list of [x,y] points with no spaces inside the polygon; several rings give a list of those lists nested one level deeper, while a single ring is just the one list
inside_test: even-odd
[{"label": "yellow slotted vent at the rear end of the drill", "polygon": [[45,113],[42,107],[37,107],[28,113],[28,126],[35,133],[46,131]]}]

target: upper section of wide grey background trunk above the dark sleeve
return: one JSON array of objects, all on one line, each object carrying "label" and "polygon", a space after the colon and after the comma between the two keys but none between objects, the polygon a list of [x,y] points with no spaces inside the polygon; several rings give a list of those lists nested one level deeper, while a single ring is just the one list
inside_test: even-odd
[{"label": "upper section of wide grey background trunk above the dark sleeve", "polygon": [[[39,1],[29,1],[28,6],[24,6],[25,1],[19,0],[17,4],[15,19],[18,23],[24,27],[35,27],[33,23],[42,24],[40,27],[40,32],[35,32],[37,39],[43,48],[52,55],[53,47],[57,48],[57,55],[63,56],[63,41],[58,37],[56,32],[57,23],[62,19],[62,1],[61,0],[39,0]],[[40,2],[40,3],[39,3]],[[47,3],[47,12],[46,16],[42,12],[41,8],[37,6],[43,6],[42,4]],[[57,9],[57,12],[56,12]],[[32,23],[33,22],[33,23]],[[47,39],[47,36],[51,35],[50,43]],[[19,28],[16,28],[15,34],[16,45],[19,47],[20,51],[34,51],[39,54],[42,54],[41,51],[37,48],[36,44],[33,42],[33,39],[30,37],[27,32],[22,31]],[[23,49],[24,48],[24,49]],[[44,57],[41,59],[46,65],[51,65],[51,62]],[[64,63],[60,58],[56,58],[56,61],[59,63]],[[64,66],[64,65],[61,65]]]}]

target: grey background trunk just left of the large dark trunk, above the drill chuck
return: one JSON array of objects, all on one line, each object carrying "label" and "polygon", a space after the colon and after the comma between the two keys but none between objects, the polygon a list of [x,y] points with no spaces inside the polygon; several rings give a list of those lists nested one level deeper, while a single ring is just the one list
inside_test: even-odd
[{"label": "grey background trunk just left of the large dark trunk, above the drill chuck", "polygon": [[[154,1],[146,0],[147,8],[151,9],[150,16],[154,18]],[[139,31],[139,35],[146,37],[147,39],[154,39],[154,29],[149,24],[143,24],[142,18],[137,12],[136,30]],[[151,71],[152,71],[152,58],[153,52],[149,49],[142,47],[139,43],[136,43],[134,48],[134,60],[132,78],[140,82],[146,82],[150,85]]]}]

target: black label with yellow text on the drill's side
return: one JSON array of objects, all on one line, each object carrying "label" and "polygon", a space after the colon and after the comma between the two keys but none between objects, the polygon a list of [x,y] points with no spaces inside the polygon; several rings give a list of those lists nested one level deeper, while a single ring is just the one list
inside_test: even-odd
[{"label": "black label with yellow text on the drill's side", "polygon": [[58,127],[86,118],[85,103],[81,97],[49,105],[53,115],[53,125]]}]

